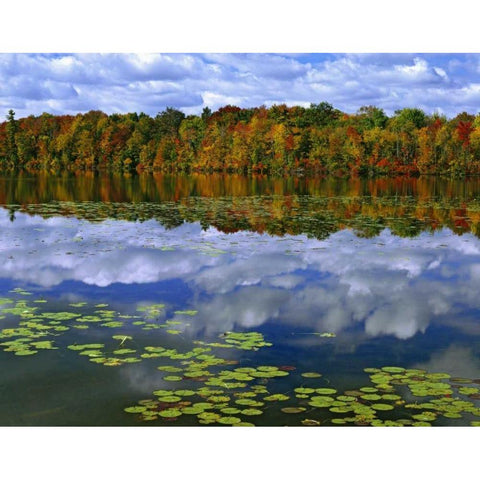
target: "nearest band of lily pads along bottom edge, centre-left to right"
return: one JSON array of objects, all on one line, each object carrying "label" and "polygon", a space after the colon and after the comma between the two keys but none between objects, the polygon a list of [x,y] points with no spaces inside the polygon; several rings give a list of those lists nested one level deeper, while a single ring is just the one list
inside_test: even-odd
[{"label": "nearest band of lily pads along bottom edge, centre-left to right", "polygon": [[[320,386],[321,374],[305,372],[301,377],[313,382],[309,386],[272,394],[266,386],[268,380],[288,375],[291,370],[294,367],[237,367],[217,374],[204,370],[203,378],[197,378],[204,382],[202,387],[156,390],[155,398],[141,400],[125,411],[144,421],[171,422],[182,416],[196,416],[199,424],[234,426],[253,426],[254,418],[267,408],[295,415],[296,423],[307,426],[430,426],[441,417],[464,416],[470,418],[471,425],[480,425],[474,420],[480,417],[480,408],[474,403],[480,398],[480,389],[465,386],[479,384],[480,379],[387,366],[365,369],[371,383],[356,390],[340,393],[331,386]],[[188,370],[178,380],[189,380],[185,372]]]}]

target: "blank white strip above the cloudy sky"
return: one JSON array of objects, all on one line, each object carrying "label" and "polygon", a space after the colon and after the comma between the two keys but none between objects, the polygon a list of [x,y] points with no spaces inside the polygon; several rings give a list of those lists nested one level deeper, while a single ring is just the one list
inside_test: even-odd
[{"label": "blank white strip above the cloudy sky", "polygon": [[473,0],[23,0],[2,52],[479,52]]}]

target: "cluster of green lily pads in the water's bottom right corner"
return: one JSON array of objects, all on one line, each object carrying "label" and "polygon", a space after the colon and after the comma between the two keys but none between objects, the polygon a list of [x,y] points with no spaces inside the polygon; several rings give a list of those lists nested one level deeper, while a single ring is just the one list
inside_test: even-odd
[{"label": "cluster of green lily pads in the water's bottom right corner", "polygon": [[[302,397],[308,397],[308,405],[328,409],[335,414],[332,424],[373,426],[429,426],[439,417],[480,417],[480,408],[473,402],[455,394],[480,398],[478,387],[458,385],[480,383],[480,380],[451,378],[446,373],[428,373],[425,370],[405,369],[397,366],[366,368],[370,374],[370,386],[348,390],[336,395],[333,388],[296,389]],[[449,380],[450,383],[446,383]],[[336,396],[335,396],[336,395]],[[299,397],[299,395],[297,395]],[[420,401],[420,399],[423,399]],[[380,412],[389,412],[390,418],[379,418]],[[316,419],[305,419],[305,425],[320,424]],[[471,420],[471,425],[480,425]]]}]

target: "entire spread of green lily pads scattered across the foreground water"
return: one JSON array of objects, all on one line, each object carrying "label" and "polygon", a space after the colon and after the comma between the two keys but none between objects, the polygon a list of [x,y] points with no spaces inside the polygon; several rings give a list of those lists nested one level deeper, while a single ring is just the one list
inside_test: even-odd
[{"label": "entire spread of green lily pads scattered across the foreground water", "polygon": [[[141,329],[164,328],[178,335],[174,326],[186,326],[182,319],[194,317],[196,310],[177,310],[174,319],[167,319],[164,304],[138,308],[139,315],[120,315],[108,310],[108,304],[96,304],[93,314],[82,314],[90,308],[85,302],[71,303],[72,312],[41,311],[45,299],[31,302],[29,292],[11,291],[17,299],[0,298],[2,318],[17,317],[18,324],[0,331],[0,346],[17,356],[30,356],[42,350],[55,350],[55,339],[71,328],[116,328],[130,320]],[[321,337],[335,335],[315,333]],[[216,342],[194,341],[190,350],[164,345],[139,347],[134,338],[115,334],[105,343],[73,343],[68,349],[91,362],[116,367],[158,359],[157,369],[163,381],[172,384],[153,392],[154,398],[140,400],[125,412],[144,421],[176,421],[195,417],[201,425],[255,425],[268,409],[283,415],[287,424],[302,425],[373,425],[427,426],[448,423],[455,419],[480,425],[480,379],[451,377],[447,373],[431,373],[398,366],[367,368],[370,383],[358,389],[338,392],[318,372],[293,373],[293,366],[238,365],[237,360],[223,358],[222,349],[257,351],[271,347],[259,332],[225,332]],[[165,363],[168,360],[167,363]],[[163,362],[163,363],[162,363]],[[296,375],[285,386],[282,377]],[[191,421],[189,421],[191,423]]]}]

